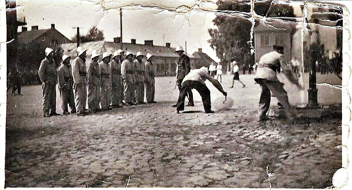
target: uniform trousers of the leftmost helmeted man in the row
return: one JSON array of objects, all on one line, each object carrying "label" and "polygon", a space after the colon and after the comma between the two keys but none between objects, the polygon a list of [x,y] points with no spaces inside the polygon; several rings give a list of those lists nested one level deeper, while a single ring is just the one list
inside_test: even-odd
[{"label": "uniform trousers of the leftmost helmeted man in the row", "polygon": [[56,112],[56,83],[43,82],[43,114],[52,114]]}]

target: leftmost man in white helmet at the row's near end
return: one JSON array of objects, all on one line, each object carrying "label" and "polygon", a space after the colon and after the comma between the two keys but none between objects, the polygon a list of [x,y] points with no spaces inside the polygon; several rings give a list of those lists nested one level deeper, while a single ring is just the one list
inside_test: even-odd
[{"label": "leftmost man in white helmet at the row's near end", "polygon": [[60,115],[56,113],[56,82],[57,70],[55,61],[52,58],[54,50],[45,49],[45,58],[40,63],[38,75],[43,82],[43,116],[50,117]]}]

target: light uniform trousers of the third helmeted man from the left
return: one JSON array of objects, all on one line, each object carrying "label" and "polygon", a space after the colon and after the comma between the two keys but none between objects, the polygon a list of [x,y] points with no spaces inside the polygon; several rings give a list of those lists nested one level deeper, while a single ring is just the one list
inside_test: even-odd
[{"label": "light uniform trousers of the third helmeted man from the left", "polygon": [[73,84],[77,114],[86,113],[87,104],[87,78],[81,77],[81,82]]}]

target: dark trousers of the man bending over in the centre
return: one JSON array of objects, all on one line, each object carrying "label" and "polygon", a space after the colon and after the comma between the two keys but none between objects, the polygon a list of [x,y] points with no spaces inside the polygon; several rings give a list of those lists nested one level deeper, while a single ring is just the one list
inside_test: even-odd
[{"label": "dark trousers of the man bending over in the centre", "polygon": [[198,81],[184,81],[177,100],[177,110],[184,110],[184,99],[186,98],[187,93],[192,89],[196,89],[202,97],[204,110],[206,112],[210,111],[212,109],[212,106],[210,105],[210,90],[207,86],[205,86],[205,84]]}]

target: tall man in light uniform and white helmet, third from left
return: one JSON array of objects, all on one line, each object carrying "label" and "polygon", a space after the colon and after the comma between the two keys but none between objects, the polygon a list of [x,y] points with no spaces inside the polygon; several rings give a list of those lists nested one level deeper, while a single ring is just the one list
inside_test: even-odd
[{"label": "tall man in light uniform and white helmet, third from left", "polygon": [[87,68],[86,53],[87,50],[78,46],[78,57],[72,62],[73,89],[75,91],[76,113],[78,116],[87,115]]}]

